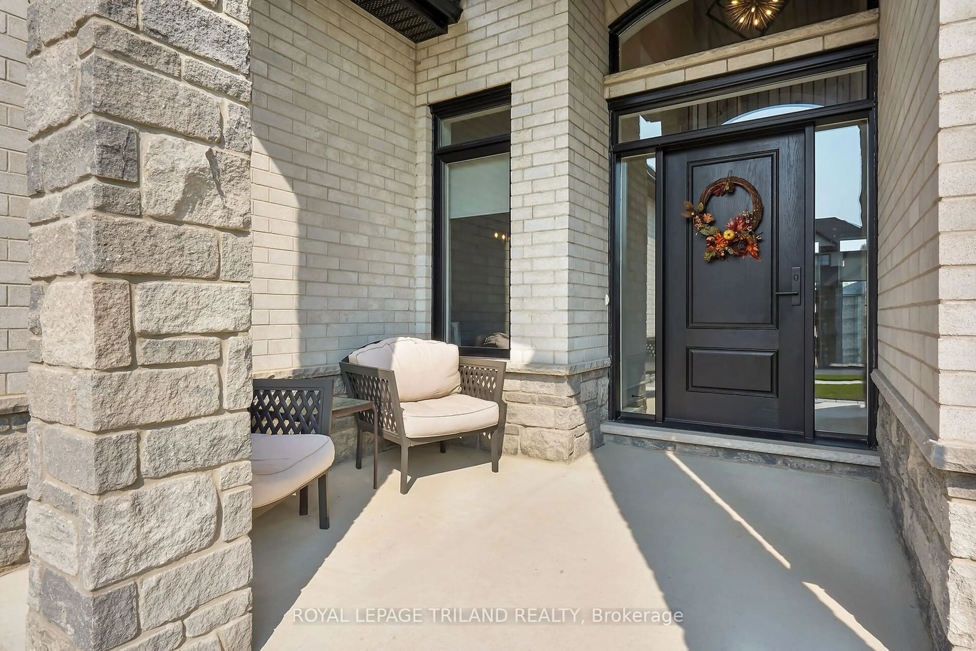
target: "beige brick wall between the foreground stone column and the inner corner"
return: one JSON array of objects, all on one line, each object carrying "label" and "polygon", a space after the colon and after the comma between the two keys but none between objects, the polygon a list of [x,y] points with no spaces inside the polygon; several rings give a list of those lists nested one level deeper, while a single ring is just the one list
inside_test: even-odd
[{"label": "beige brick wall between the foreground stone column and the inner corner", "polygon": [[252,9],[255,372],[332,367],[417,332],[415,46],[348,0]]}]

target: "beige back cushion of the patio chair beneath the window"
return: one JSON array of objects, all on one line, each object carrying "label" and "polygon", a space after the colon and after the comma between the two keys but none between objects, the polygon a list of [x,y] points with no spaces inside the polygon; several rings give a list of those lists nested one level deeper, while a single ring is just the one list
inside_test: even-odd
[{"label": "beige back cushion of the patio chair beneath the window", "polygon": [[413,337],[394,337],[349,353],[359,366],[390,369],[400,402],[440,398],[461,391],[458,346]]}]

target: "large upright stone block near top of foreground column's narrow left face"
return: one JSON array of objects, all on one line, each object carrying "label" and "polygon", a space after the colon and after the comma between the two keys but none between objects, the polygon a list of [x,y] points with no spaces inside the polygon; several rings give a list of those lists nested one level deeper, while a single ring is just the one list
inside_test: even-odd
[{"label": "large upright stone block near top of foreground column's narrow left face", "polygon": [[62,41],[27,61],[27,135],[33,138],[66,123],[78,112],[78,56]]}]

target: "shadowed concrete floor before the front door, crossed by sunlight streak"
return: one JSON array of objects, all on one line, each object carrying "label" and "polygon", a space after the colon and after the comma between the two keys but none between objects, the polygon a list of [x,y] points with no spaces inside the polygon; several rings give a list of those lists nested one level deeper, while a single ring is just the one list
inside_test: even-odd
[{"label": "shadowed concrete floor before the front door, crossed by sunlight streak", "polygon": [[595,460],[689,649],[931,648],[876,483],[613,444]]}]

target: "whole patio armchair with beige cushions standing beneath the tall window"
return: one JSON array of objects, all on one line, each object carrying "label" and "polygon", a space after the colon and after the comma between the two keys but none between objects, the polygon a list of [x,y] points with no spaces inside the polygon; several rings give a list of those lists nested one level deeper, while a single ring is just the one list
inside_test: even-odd
[{"label": "whole patio armchair with beige cushions standing beneath the tall window", "polygon": [[[340,364],[351,397],[377,406],[380,434],[400,446],[400,493],[407,492],[410,448],[462,436],[491,436],[498,472],[505,436],[506,364],[461,357],[458,346],[394,337],[359,348]],[[356,436],[373,430],[373,413],[356,416]]]}]

